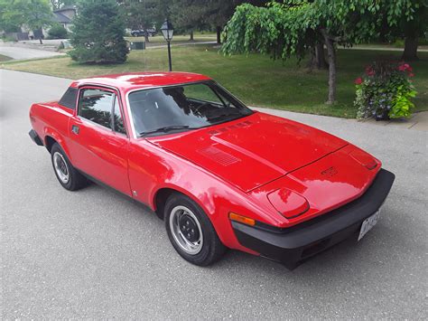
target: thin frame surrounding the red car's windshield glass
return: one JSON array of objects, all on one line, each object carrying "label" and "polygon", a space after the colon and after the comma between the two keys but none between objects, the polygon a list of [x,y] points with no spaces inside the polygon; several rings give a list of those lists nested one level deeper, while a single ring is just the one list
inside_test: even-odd
[{"label": "thin frame surrounding the red car's windshield glass", "polygon": [[[181,82],[181,83],[176,83],[173,85],[164,85],[164,86],[153,86],[153,87],[147,87],[147,88],[137,88],[134,90],[129,90],[126,92],[126,112],[127,112],[127,116],[128,116],[128,120],[130,123],[130,127],[131,127],[131,132],[132,132],[132,137],[134,137],[135,139],[139,139],[139,138],[147,138],[144,137],[144,135],[141,135],[140,133],[137,133],[135,131],[135,126],[134,126],[134,116],[132,114],[131,111],[131,105],[129,103],[129,95],[134,93],[135,91],[144,91],[144,90],[156,90],[156,89],[160,89],[160,88],[173,88],[173,87],[180,87],[180,86],[189,86],[189,85],[194,85],[194,84],[205,84],[209,87],[209,84],[213,84],[215,86],[218,86],[220,88],[220,90],[224,90],[228,96],[230,96],[232,99],[237,101],[237,104],[240,105],[240,107],[242,107],[243,109],[247,109],[249,111],[249,113],[247,115],[241,115],[237,118],[234,119],[225,119],[224,121],[219,121],[217,123],[214,124],[209,124],[207,126],[202,126],[202,127],[197,127],[197,128],[189,128],[189,130],[196,130],[196,129],[200,129],[200,128],[206,128],[206,127],[211,127],[211,126],[216,126],[222,123],[226,123],[228,121],[233,121],[239,118],[244,118],[247,116],[250,116],[252,114],[254,114],[254,110],[249,109],[247,107],[246,104],[244,104],[240,99],[237,99],[237,97],[235,95],[233,95],[230,91],[228,91],[227,89],[225,89],[223,86],[221,86],[217,81],[215,80],[198,80],[198,81],[189,81],[189,82]],[[211,89],[212,90],[212,89]],[[213,90],[214,91],[214,90]],[[218,93],[216,91],[214,91],[214,93],[216,95],[218,95]],[[188,131],[188,129],[185,129],[184,131]],[[172,132],[159,132],[156,133],[155,135],[151,136],[151,137],[158,137],[158,136],[163,136],[163,135],[169,135],[169,134],[173,134]]]}]

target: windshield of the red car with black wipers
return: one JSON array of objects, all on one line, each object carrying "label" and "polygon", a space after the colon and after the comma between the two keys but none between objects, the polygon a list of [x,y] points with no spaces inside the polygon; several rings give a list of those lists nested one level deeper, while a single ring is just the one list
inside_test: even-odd
[{"label": "windshield of the red car with black wipers", "polygon": [[213,81],[134,91],[129,94],[129,107],[140,137],[207,127],[252,114]]}]

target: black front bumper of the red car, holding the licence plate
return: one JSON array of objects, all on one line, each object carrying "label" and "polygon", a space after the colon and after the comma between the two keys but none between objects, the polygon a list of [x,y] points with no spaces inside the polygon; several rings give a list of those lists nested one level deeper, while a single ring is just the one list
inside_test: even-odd
[{"label": "black front bumper of the red car, holding the licence plate", "polygon": [[394,174],[381,169],[357,200],[290,228],[251,227],[239,222],[232,222],[232,227],[241,245],[294,269],[303,260],[358,234],[361,223],[385,202],[394,180]]}]

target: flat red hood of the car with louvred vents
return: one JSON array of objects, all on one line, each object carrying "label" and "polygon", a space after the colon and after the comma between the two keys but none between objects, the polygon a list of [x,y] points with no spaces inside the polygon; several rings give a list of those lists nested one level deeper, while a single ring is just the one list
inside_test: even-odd
[{"label": "flat red hood of the car with louvred vents", "polygon": [[147,139],[245,192],[348,145],[316,128],[262,112]]}]

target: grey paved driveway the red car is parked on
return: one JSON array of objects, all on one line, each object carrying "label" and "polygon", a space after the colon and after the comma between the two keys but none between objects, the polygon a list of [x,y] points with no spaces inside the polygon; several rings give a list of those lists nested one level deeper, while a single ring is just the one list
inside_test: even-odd
[{"label": "grey paved driveway the red car is parked on", "polygon": [[[98,185],[70,193],[27,135],[33,101],[69,80],[0,70],[3,319],[428,317],[427,133],[281,113],[368,149],[396,174],[381,221],[293,272],[237,251],[181,260],[163,222]],[[277,111],[273,111],[278,113]]]}]

